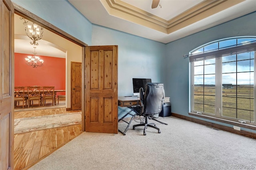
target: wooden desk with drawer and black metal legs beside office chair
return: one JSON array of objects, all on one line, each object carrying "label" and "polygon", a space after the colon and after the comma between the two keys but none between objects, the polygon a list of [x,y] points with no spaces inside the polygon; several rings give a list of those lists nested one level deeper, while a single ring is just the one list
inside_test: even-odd
[{"label": "wooden desk with drawer and black metal legs beside office chair", "polygon": [[[123,135],[125,135],[125,132],[128,130],[128,127],[130,126],[132,119],[136,116],[136,114],[132,115],[131,112],[134,111],[133,107],[136,106],[140,106],[140,98],[137,96],[119,96],[118,97],[118,106],[120,107],[127,107],[129,109],[131,109],[128,113],[126,113],[121,119],[118,119],[118,122],[120,121],[124,121],[125,123],[128,124],[128,126],[126,127],[126,129],[124,130],[124,132],[122,132],[121,130],[118,129],[118,131],[120,133],[122,133]],[[124,120],[124,118],[128,115],[131,115],[132,118],[130,119],[129,122],[126,122]]]}]

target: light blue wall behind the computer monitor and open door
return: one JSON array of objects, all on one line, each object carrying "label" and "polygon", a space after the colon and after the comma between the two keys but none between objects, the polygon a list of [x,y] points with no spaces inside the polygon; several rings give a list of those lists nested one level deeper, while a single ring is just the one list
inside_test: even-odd
[{"label": "light blue wall behind the computer monitor and open door", "polygon": [[133,95],[132,78],[162,82],[165,44],[110,28],[92,26],[92,45],[118,45],[118,95]]}]

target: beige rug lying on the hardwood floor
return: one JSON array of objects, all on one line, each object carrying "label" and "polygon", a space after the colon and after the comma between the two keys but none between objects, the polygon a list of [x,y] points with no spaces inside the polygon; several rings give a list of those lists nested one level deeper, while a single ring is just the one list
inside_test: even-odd
[{"label": "beige rug lying on the hardwood floor", "polygon": [[81,112],[14,119],[14,134],[82,123]]}]

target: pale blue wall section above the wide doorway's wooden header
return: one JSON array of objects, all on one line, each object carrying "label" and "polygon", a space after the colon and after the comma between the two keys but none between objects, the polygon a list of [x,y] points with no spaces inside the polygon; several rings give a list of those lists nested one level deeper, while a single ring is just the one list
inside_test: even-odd
[{"label": "pale blue wall section above the wide doorway's wooden header", "polygon": [[78,40],[90,45],[92,23],[68,0],[12,0]]}]

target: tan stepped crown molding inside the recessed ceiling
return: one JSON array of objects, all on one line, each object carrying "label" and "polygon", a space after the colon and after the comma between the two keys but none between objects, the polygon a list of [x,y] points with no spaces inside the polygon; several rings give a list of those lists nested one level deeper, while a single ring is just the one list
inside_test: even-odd
[{"label": "tan stepped crown molding inside the recessed ceiling", "polygon": [[180,15],[164,20],[122,0],[100,0],[108,14],[165,34],[170,34],[245,0],[204,0]]}]

